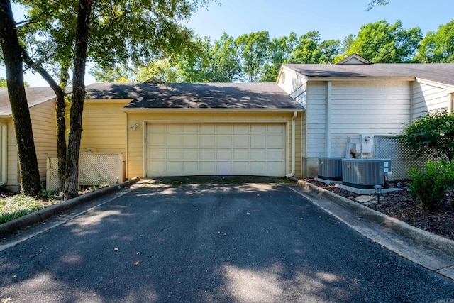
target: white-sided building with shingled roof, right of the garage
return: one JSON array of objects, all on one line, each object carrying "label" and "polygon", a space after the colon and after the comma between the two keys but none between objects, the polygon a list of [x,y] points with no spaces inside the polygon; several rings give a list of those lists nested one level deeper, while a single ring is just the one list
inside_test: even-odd
[{"label": "white-sided building with shingled roof, right of the garage", "polygon": [[353,55],[337,65],[282,65],[279,87],[301,104],[301,174],[318,158],[345,158],[361,135],[395,135],[433,109],[453,109],[454,64],[370,64]]}]

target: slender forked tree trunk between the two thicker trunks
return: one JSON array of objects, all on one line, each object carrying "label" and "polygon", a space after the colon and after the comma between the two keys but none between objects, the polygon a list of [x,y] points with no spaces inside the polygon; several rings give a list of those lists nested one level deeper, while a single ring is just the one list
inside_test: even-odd
[{"label": "slender forked tree trunk between the two thicker trunks", "polygon": [[23,62],[26,65],[33,68],[38,72],[49,86],[55,92],[55,118],[57,125],[57,158],[58,158],[58,173],[57,173],[57,190],[63,192],[65,189],[65,177],[66,177],[66,122],[65,122],[65,89],[69,75],[67,75],[68,66],[62,67],[60,85],[49,75],[49,73],[43,69],[40,65],[36,65],[31,59],[25,49],[21,48]]}]

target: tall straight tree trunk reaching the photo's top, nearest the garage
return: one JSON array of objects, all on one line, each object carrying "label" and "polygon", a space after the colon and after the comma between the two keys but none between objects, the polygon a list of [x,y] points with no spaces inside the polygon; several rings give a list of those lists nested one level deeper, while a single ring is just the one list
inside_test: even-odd
[{"label": "tall straight tree trunk reaching the photo's top, nearest the garage", "polygon": [[72,75],[72,104],[70,111],[70,136],[68,138],[65,199],[77,197],[79,187],[79,152],[82,136],[82,112],[85,99],[85,63],[89,39],[89,19],[92,0],[79,0],[77,13],[76,48]]}]

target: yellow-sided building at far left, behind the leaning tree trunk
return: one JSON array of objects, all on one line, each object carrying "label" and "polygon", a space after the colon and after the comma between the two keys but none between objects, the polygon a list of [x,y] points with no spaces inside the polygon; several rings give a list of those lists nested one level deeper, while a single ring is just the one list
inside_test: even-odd
[{"label": "yellow-sided building at far left, behind the leaning tree trunk", "polygon": [[[48,88],[27,88],[26,95],[35,138],[36,156],[42,182],[46,180],[47,158],[57,155],[55,131],[55,93]],[[14,132],[8,89],[0,88],[0,186],[18,192],[21,179],[17,141]]]}]

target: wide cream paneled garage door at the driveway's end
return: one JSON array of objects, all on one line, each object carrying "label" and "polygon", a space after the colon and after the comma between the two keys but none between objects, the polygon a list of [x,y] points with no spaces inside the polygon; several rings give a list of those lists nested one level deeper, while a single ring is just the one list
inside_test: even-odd
[{"label": "wide cream paneled garage door at the driveway's end", "polygon": [[147,123],[146,175],[283,176],[284,123]]}]

